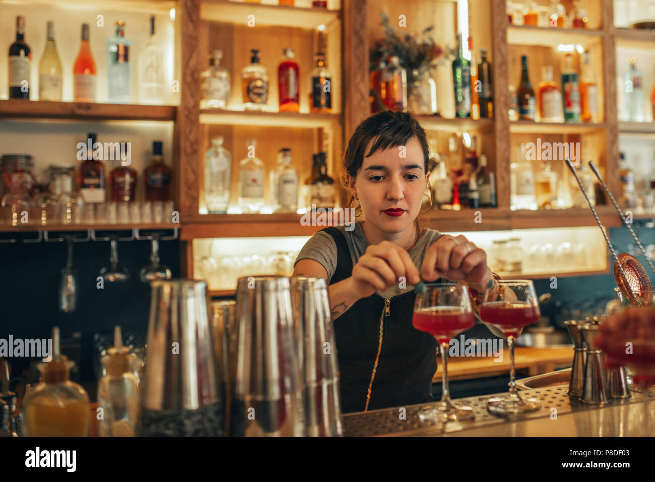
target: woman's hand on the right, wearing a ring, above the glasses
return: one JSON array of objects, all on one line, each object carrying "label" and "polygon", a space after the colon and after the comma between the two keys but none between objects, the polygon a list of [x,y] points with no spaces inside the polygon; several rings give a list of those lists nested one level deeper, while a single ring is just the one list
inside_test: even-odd
[{"label": "woman's hand on the right, wearing a ring, above the glasses", "polygon": [[483,293],[493,274],[487,266],[485,251],[461,234],[444,234],[425,251],[421,277],[427,282],[441,277],[464,280],[478,293]]}]

